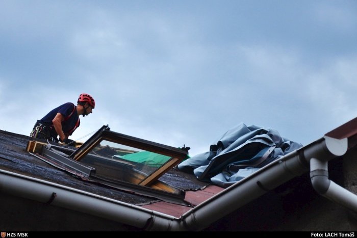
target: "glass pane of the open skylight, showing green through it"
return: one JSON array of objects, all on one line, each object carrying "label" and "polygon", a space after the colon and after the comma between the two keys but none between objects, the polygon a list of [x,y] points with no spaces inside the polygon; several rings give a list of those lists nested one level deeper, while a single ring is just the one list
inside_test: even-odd
[{"label": "glass pane of the open skylight, showing green through it", "polygon": [[81,162],[94,167],[97,176],[139,184],[170,159],[167,155],[103,140]]}]

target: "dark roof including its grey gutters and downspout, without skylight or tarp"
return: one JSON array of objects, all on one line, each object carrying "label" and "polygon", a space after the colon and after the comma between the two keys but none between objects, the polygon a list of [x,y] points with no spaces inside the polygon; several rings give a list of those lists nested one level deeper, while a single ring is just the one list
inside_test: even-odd
[{"label": "dark roof including its grey gutters and downspout, without skylight or tarp", "polygon": [[[160,180],[185,191],[183,204],[84,180],[25,151],[29,137],[0,130],[0,188],[7,193],[80,210],[146,230],[201,230],[293,178],[310,171],[322,196],[357,211],[357,196],[328,179],[327,163],[351,150],[357,131],[345,127],[295,150],[228,188],[171,169]],[[335,135],[335,134],[334,134]]]}]

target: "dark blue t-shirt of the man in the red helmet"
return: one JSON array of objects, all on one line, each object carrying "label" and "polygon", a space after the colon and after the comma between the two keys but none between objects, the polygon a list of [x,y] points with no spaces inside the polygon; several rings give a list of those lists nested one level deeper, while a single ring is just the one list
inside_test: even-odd
[{"label": "dark blue t-shirt of the man in the red helmet", "polygon": [[80,126],[80,119],[77,114],[77,107],[75,107],[72,102],[67,102],[60,105],[59,107],[47,113],[47,115],[44,116],[38,122],[45,125],[53,125],[52,120],[55,118],[57,113],[61,113],[65,118],[65,120],[62,121],[63,132],[70,133],[70,135],[72,135],[73,131]]}]

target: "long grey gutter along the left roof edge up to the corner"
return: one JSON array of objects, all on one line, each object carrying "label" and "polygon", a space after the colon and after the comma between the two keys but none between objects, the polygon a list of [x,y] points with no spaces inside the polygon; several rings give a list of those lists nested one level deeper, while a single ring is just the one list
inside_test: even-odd
[{"label": "long grey gutter along the left roof edge up to the corner", "polygon": [[166,230],[174,219],[140,206],[5,170],[0,170],[0,191],[142,229],[152,223],[152,229]]}]

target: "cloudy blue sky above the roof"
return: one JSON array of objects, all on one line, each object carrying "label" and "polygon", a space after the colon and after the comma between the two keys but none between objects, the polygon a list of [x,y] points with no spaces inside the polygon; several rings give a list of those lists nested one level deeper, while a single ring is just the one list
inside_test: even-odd
[{"label": "cloudy blue sky above the roof", "polygon": [[0,0],[0,129],[81,93],[103,125],[190,156],[240,124],[307,145],[357,117],[357,2]]}]

